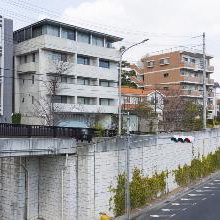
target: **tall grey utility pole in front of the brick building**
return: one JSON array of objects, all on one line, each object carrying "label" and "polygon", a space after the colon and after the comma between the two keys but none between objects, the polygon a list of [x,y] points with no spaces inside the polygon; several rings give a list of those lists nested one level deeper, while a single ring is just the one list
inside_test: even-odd
[{"label": "tall grey utility pole in front of the brick building", "polygon": [[206,56],[205,56],[205,32],[202,35],[203,38],[203,129],[206,129]]}]

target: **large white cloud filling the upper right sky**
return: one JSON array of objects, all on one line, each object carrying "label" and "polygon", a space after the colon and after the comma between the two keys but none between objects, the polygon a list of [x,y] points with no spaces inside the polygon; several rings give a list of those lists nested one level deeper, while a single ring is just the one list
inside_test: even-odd
[{"label": "large white cloud filling the upper right sky", "polygon": [[[216,73],[220,71],[220,2],[218,0],[94,0],[64,10],[62,19],[75,25],[124,37],[129,45],[146,37],[146,45],[134,48],[127,59],[136,61],[149,51],[171,48],[175,45],[200,45],[202,38],[192,36],[206,32],[208,52]],[[220,81],[220,75],[214,74]]]}]

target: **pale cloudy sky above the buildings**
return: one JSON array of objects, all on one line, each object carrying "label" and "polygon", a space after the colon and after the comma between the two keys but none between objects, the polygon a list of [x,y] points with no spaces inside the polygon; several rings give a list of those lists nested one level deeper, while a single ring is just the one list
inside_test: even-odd
[{"label": "pale cloudy sky above the buildings", "polygon": [[213,55],[220,82],[220,1],[219,0],[0,0],[0,14],[14,20],[14,29],[43,18],[123,37],[116,44],[128,47],[149,38],[147,43],[129,50],[124,59],[137,62],[146,54],[175,50],[185,46]]}]

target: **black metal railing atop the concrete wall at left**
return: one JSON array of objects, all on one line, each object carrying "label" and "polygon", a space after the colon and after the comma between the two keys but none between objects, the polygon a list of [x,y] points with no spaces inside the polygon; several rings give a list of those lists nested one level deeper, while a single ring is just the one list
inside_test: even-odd
[{"label": "black metal railing atop the concrete wall at left", "polygon": [[[75,138],[77,141],[91,141],[98,135],[93,128],[69,128],[42,125],[6,124],[0,123],[0,137],[54,137]],[[104,130],[103,137],[116,136],[115,130]]]}]

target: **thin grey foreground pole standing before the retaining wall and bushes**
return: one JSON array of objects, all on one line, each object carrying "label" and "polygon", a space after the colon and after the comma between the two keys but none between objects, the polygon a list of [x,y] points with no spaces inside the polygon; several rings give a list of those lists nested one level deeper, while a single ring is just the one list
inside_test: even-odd
[{"label": "thin grey foreground pole standing before the retaining wall and bushes", "polygon": [[126,211],[126,220],[130,220],[130,187],[129,187],[129,172],[130,172],[130,115],[128,112],[127,115],[127,147],[126,147],[126,156],[127,156],[127,171],[126,171],[126,189],[125,189],[125,211]]}]

